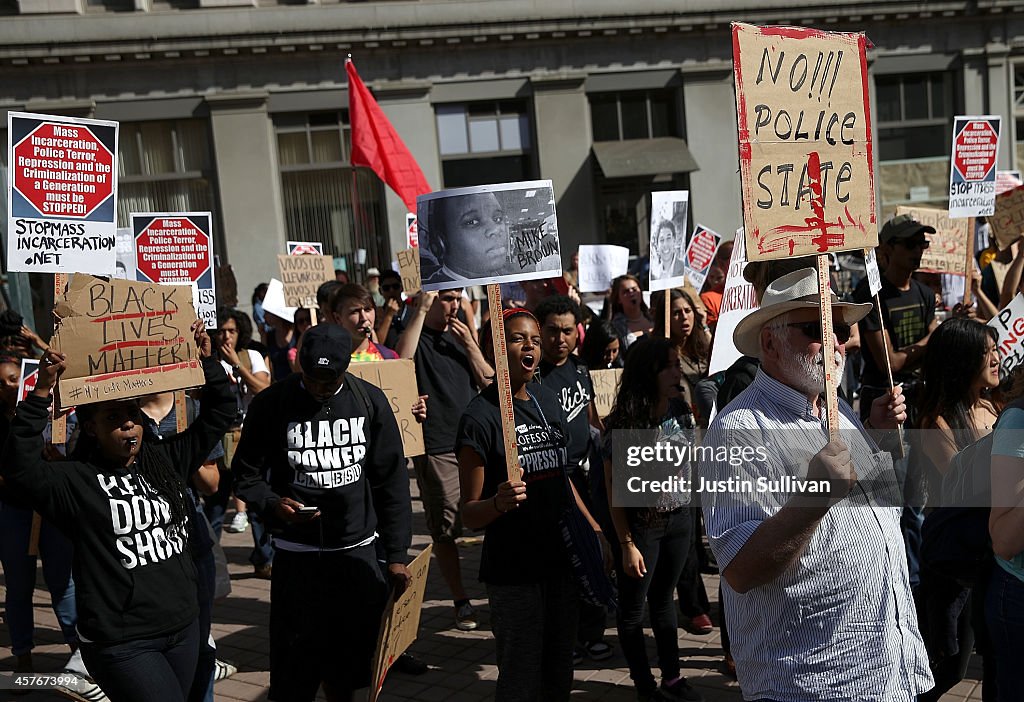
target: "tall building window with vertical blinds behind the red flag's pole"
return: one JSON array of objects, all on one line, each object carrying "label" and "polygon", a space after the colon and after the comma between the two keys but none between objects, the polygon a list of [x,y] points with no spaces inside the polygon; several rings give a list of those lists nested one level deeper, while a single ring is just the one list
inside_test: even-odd
[{"label": "tall building window with vertical blinds behind the red flag's pole", "polygon": [[346,266],[359,249],[368,265],[390,261],[383,186],[349,162],[348,111],[281,114],[273,122],[288,238],[321,242]]}]

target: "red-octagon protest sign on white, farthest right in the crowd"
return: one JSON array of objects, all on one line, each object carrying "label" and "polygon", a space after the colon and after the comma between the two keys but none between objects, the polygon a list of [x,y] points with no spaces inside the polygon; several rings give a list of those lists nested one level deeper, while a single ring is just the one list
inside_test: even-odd
[{"label": "red-octagon protest sign on white, farthest right in the crowd", "polygon": [[949,216],[981,217],[995,212],[995,158],[999,124],[994,115],[954,117],[949,160]]}]

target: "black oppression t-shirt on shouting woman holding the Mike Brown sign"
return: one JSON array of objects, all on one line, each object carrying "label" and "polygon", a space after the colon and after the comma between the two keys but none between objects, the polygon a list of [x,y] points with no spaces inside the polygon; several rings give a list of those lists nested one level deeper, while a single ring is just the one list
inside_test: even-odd
[{"label": "black oppression t-shirt on shouting woman holding the Mike Brown sign", "polygon": [[[565,413],[547,388],[531,384],[529,392],[536,403],[512,400],[526,501],[498,517],[484,531],[480,580],[496,585],[539,582],[568,568],[558,526],[558,518],[571,498],[565,484]],[[508,480],[497,384],[477,395],[462,415],[456,450],[463,447],[472,448],[483,458],[480,494],[489,499]]]}]

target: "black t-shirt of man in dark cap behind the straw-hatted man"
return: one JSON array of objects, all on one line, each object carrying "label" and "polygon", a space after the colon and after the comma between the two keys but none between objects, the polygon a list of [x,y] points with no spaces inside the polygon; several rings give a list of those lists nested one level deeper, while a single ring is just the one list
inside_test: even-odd
[{"label": "black t-shirt of man in dark cap behind the straw-hatted man", "polygon": [[[870,289],[867,287],[867,278],[863,278],[857,286],[853,292],[853,299],[855,302],[874,302]],[[910,289],[902,291],[883,275],[879,300],[882,302],[886,331],[892,340],[893,349],[898,351],[928,336],[928,327],[935,319],[935,294],[930,288],[910,278]],[[867,332],[878,332],[882,328],[879,310],[872,308],[870,314],[861,319],[859,323],[861,336]],[[876,359],[871,355],[870,347],[866,344],[863,344],[862,348],[864,349],[862,354],[864,376],[861,379],[863,384],[888,387],[889,378],[886,374],[885,359]],[[912,372],[900,372],[895,375],[895,380],[899,383],[912,377]]]}]

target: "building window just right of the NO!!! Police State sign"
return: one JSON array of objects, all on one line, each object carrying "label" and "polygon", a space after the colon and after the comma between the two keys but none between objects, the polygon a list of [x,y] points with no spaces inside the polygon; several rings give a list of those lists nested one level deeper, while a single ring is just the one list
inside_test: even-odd
[{"label": "building window just right of the NO!!! Police State sign", "polygon": [[876,77],[883,217],[910,203],[946,207],[953,86],[949,72]]}]

